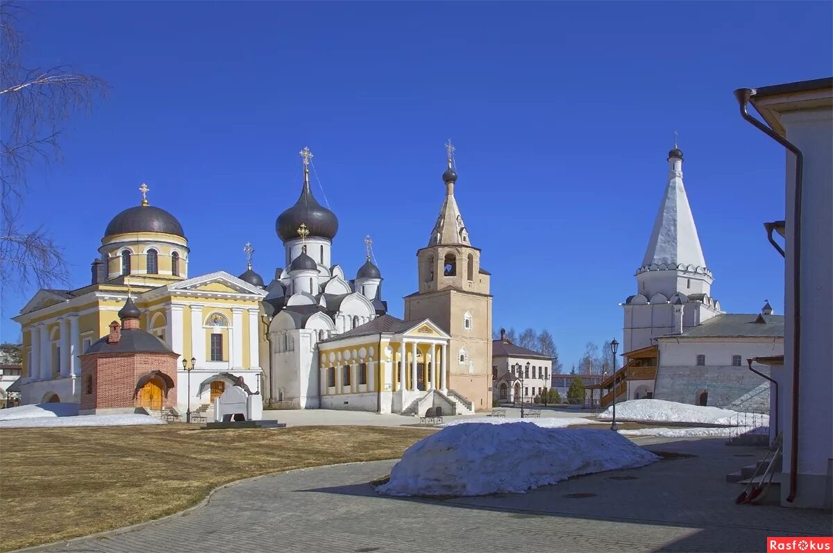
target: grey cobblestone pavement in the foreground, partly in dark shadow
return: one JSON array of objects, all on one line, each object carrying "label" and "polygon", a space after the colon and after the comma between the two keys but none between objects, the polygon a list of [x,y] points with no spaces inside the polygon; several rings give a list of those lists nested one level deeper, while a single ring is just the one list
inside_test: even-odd
[{"label": "grey cobblestone pavement in the foreground, partly in dark shadow", "polygon": [[225,488],[185,516],[50,551],[766,551],[767,536],[831,533],[819,511],[735,505],[741,488],[724,476],[761,449],[635,441],[696,457],[449,501],[377,496],[367,482],[394,461],[293,471]]}]

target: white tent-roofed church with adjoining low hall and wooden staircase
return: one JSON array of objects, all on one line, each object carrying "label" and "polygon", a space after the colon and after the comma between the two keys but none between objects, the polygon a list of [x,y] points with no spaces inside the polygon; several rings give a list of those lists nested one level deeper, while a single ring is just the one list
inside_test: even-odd
[{"label": "white tent-roofed church with adjoining low hall and wooden staircase", "polygon": [[[668,152],[668,178],[645,257],[636,270],[637,293],[621,304],[625,366],[616,372],[616,400],[656,399],[766,410],[766,360],[782,356],[784,317],[768,302],[760,313],[726,313],[711,296],[686,188],[683,154]],[[603,388],[612,387],[608,376]],[[601,404],[612,393],[601,397]]]}]

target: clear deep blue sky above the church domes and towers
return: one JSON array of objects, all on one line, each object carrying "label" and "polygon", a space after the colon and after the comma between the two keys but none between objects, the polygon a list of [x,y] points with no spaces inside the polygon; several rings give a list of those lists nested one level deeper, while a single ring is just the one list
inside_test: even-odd
[{"label": "clear deep blue sky above the church domes and towers", "polygon": [[[547,328],[565,366],[621,341],[666,183],[673,132],[713,296],[783,311],[781,147],[732,91],[833,72],[831,2],[28,2],[32,65],[72,63],[109,97],[67,125],[65,160],[30,172],[26,214],[52,229],[72,285],[109,219],[152,205],[182,222],[190,274],[282,262],[277,215],[309,146],[354,275],[370,234],[402,316],[416,250],[457,202],[492,273],[494,325]],[[323,202],[317,182],[314,192]],[[9,320],[33,291],[7,288]]]}]

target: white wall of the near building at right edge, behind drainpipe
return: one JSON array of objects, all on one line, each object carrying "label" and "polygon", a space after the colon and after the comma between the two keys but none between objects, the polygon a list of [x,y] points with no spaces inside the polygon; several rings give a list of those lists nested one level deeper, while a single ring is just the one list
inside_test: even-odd
[{"label": "white wall of the near building at right edge, behind drainpipe", "polygon": [[[801,356],[799,380],[798,446],[799,487],[791,506],[830,506],[831,470],[833,470],[833,111],[814,109],[787,112],[781,117],[787,139],[804,154],[804,182],[801,213]],[[792,247],[796,221],[795,157],[786,152],[786,263],[785,312],[786,352],[782,371],[773,371],[779,381],[782,428],[785,430],[783,471],[791,470],[791,396],[793,336],[795,328],[792,289],[795,249]],[[781,486],[786,497],[789,486]]]}]

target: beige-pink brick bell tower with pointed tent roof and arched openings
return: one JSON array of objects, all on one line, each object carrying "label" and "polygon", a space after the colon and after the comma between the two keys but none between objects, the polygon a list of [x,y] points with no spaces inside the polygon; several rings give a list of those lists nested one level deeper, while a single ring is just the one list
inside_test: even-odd
[{"label": "beige-pink brick bell tower with pointed tent roof and arched openings", "polygon": [[419,291],[405,296],[405,320],[429,318],[451,335],[450,391],[471,401],[475,411],[491,409],[491,273],[481,268],[454,197],[454,147],[446,144],[442,174],[446,197],[427,247],[416,252]]}]

